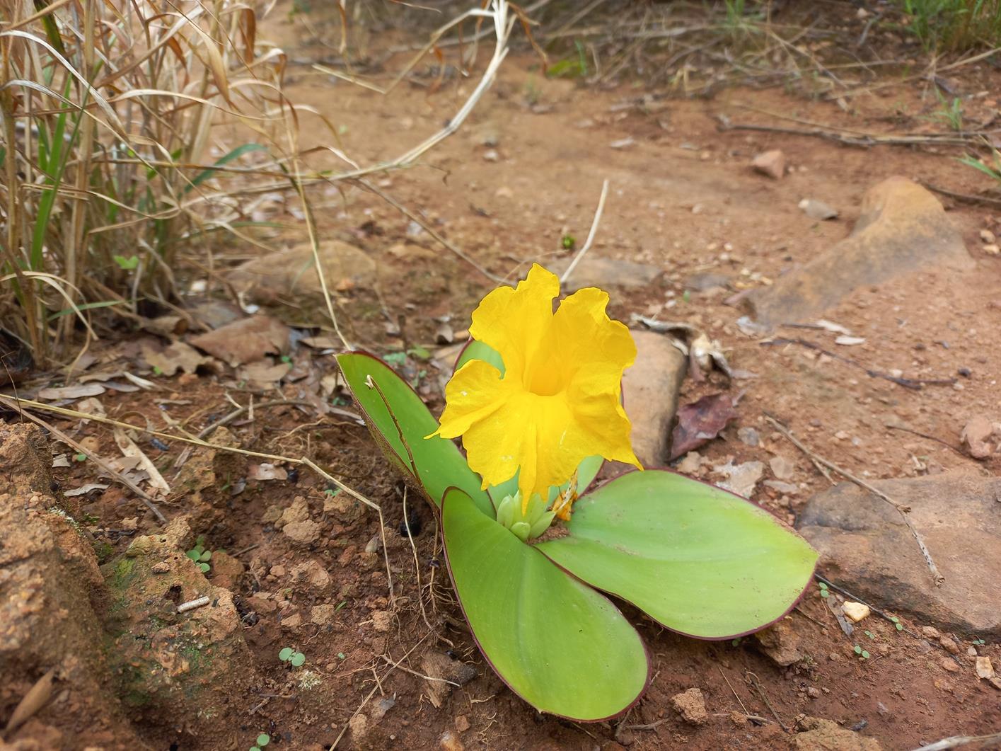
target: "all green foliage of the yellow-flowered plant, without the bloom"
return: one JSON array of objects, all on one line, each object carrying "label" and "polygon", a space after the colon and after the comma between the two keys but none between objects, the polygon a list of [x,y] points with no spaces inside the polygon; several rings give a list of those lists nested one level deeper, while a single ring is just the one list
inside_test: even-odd
[{"label": "all green foliage of the yellow-flowered plant, without the bloom", "polygon": [[[456,367],[470,358],[504,367],[480,342]],[[810,583],[817,554],[802,538],[746,499],[665,470],[630,472],[584,494],[562,537],[533,544],[552,512],[537,500],[523,515],[521,499],[509,498],[515,479],[481,490],[453,443],[425,440],[434,418],[384,362],[365,352],[337,361],[376,443],[437,513],[480,650],[540,711],[603,720],[643,693],[646,649],[602,592],[679,633],[732,639],[782,618]],[[579,492],[601,464],[581,464]]]}]

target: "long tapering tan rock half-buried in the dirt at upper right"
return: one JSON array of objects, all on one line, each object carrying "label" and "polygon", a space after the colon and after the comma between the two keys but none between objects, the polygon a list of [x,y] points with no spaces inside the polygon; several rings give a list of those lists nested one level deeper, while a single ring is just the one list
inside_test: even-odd
[{"label": "long tapering tan rock half-buried in the dirt at upper right", "polygon": [[852,234],[747,298],[766,326],[811,320],[855,288],[930,265],[970,268],[973,260],[938,199],[891,177],[870,188]]}]

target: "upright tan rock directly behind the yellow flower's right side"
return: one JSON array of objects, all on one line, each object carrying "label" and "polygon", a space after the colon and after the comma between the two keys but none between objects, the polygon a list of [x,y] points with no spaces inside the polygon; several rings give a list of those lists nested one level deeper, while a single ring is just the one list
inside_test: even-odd
[{"label": "upright tan rock directly behind the yellow flower's right side", "polygon": [[633,423],[633,451],[644,467],[667,461],[671,424],[688,361],[667,336],[633,331],[636,364],[623,373],[623,404]]}]

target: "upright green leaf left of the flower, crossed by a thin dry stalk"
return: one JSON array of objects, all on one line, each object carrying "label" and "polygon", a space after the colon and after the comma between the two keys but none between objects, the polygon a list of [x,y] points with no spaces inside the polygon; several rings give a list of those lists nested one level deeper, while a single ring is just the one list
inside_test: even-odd
[{"label": "upright green leaf left of the flower, crossed by a thin dry stalk", "polygon": [[425,439],[437,430],[437,421],[405,381],[367,352],[338,354],[337,364],[375,443],[424,489],[434,506],[441,505],[445,489],[455,486],[483,514],[493,516],[490,499],[480,490],[479,476],[469,469],[458,448],[442,438]]}]

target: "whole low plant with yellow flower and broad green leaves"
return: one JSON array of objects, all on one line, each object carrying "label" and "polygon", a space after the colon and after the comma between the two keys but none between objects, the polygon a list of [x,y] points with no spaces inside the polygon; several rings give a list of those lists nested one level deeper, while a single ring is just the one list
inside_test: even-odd
[{"label": "whole low plant with yellow flower and broad green leaves", "polygon": [[640,468],[620,403],[637,349],[606,292],[579,290],[555,310],[559,295],[536,264],[483,298],[440,421],[367,352],[337,364],[376,444],[435,508],[489,665],[538,710],[599,721],[633,706],[651,676],[640,634],[606,595],[676,632],[734,640],[782,618],[818,556],[746,499],[670,472],[628,472],[578,497],[606,459]]}]

